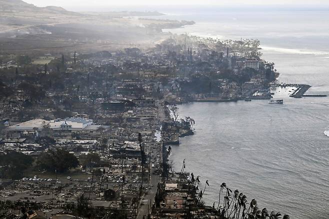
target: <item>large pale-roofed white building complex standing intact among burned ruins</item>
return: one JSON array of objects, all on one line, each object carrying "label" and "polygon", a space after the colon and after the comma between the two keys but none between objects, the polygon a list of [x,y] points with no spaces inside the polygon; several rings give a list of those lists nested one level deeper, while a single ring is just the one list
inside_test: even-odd
[{"label": "large pale-roofed white building complex standing intact among burned ruins", "polygon": [[12,131],[36,131],[49,127],[53,130],[70,130],[70,131],[93,131],[101,125],[92,124],[92,119],[71,117],[64,119],[44,120],[41,118],[32,119],[8,127]]}]

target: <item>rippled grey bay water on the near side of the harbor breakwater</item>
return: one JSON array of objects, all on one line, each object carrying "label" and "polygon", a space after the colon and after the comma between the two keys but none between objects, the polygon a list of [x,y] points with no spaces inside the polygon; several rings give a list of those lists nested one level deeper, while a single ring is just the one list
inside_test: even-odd
[{"label": "rippled grey bay water on the near side of the harbor breakwater", "polygon": [[170,159],[178,170],[186,158],[186,171],[209,181],[209,205],[226,182],[261,208],[328,218],[328,109],[315,98],[183,104],[180,114],[195,119],[195,134],[173,145]]}]

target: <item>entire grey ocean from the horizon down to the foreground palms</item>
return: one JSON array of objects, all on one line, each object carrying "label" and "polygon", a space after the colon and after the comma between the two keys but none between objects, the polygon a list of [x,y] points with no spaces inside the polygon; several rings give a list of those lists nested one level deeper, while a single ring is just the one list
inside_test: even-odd
[{"label": "entire grey ocean from the horizon down to the foreground palms", "polygon": [[[163,18],[194,20],[173,33],[219,39],[258,38],[262,58],[278,80],[306,83],[306,94],[329,94],[329,10],[312,8],[194,8]],[[283,95],[283,96],[282,96]],[[187,103],[180,115],[195,119],[195,134],[172,146],[176,169],[209,181],[204,201],[217,201],[221,182],[255,198],[259,208],[290,218],[329,218],[329,97]]]}]

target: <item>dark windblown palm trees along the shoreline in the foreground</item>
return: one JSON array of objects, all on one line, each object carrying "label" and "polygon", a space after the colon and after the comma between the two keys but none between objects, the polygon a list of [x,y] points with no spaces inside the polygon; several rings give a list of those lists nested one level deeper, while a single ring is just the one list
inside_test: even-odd
[{"label": "dark windblown palm trees along the shoreline in the foreground", "polygon": [[[184,178],[185,159],[183,160],[182,167],[179,172],[179,181],[182,183],[181,178]],[[196,178],[193,173],[189,176],[185,175],[187,179],[188,194],[195,197],[195,207],[202,205],[201,199],[207,187],[210,187],[208,180],[205,181],[204,188],[199,190],[200,176]],[[185,180],[186,182],[186,180]],[[188,195],[187,194],[187,195]],[[257,201],[252,199],[247,203],[247,197],[239,190],[232,190],[222,182],[219,186],[218,203],[213,202],[212,210],[220,219],[280,219],[282,214],[280,212],[269,211],[266,208],[260,208]],[[282,219],[289,219],[289,215],[284,214]]]}]

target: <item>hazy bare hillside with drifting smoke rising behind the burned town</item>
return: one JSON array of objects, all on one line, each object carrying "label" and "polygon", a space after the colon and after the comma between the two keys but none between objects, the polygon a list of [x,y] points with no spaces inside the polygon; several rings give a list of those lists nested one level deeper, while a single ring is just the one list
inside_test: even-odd
[{"label": "hazy bare hillside with drifting smoke rising behind the burned town", "polygon": [[89,52],[131,43],[149,46],[166,37],[162,28],[192,24],[130,17],[142,15],[161,13],[77,13],[57,6],[37,7],[22,0],[0,0],[0,53]]}]

